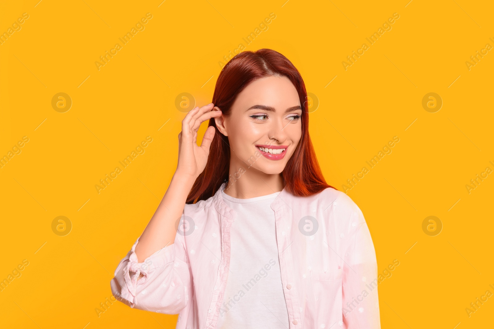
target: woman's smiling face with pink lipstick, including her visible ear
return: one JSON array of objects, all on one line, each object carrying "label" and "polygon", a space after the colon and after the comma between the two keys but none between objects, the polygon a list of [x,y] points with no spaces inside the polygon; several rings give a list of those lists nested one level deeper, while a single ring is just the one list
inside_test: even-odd
[{"label": "woman's smiling face with pink lipstick, including her visible ear", "polygon": [[218,130],[228,136],[232,169],[281,173],[302,136],[301,115],[297,90],[287,77],[272,75],[248,84],[230,115],[215,118]]}]

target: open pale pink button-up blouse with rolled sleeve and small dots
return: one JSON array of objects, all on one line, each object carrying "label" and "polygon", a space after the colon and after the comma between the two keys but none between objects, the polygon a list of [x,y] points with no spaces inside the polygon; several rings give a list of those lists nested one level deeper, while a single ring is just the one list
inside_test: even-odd
[{"label": "open pale pink button-up blouse with rolled sleeve and small dots", "polygon": [[[207,200],[186,204],[174,243],[141,263],[137,239],[111,281],[119,300],[178,313],[177,329],[216,328],[237,216],[221,196],[225,184]],[[289,329],[380,328],[374,246],[352,199],[333,188],[309,197],[283,189],[271,209]]]}]

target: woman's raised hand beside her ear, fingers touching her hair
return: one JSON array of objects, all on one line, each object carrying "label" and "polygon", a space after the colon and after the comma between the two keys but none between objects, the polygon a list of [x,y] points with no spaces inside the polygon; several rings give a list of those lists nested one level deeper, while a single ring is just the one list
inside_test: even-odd
[{"label": "woman's raised hand beside her ear, fingers touching her hair", "polygon": [[221,115],[221,110],[213,110],[214,105],[208,104],[202,108],[190,110],[182,120],[182,131],[178,134],[178,164],[177,172],[190,175],[194,179],[206,168],[209,146],[215,134],[215,128],[209,126],[204,133],[201,146],[197,145],[197,131],[206,120]]}]

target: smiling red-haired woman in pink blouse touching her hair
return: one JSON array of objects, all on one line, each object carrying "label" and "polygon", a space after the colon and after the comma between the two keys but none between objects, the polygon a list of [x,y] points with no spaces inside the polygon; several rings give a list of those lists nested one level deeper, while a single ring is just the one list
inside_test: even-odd
[{"label": "smiling red-haired woman in pink blouse touching her hair", "polygon": [[213,103],[182,121],[175,174],[111,282],[119,300],[179,313],[179,329],[380,328],[371,235],[323,178],[306,97],[274,50],[225,65]]}]

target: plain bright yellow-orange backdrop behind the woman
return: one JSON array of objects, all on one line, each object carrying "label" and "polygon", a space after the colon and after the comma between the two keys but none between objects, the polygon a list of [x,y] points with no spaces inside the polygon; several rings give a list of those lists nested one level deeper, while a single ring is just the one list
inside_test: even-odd
[{"label": "plain bright yellow-orange backdrop behind the woman", "polygon": [[[95,309],[176,168],[185,116],[177,95],[209,103],[218,62],[240,43],[275,49],[301,72],[329,184],[342,190],[400,139],[347,191],[369,224],[379,271],[400,261],[379,285],[382,328],[492,327],[494,298],[465,311],[494,293],[494,175],[465,187],[494,169],[493,51],[465,64],[494,46],[492,2],[161,1],[0,3],[0,32],[29,15],[0,45],[0,156],[29,139],[0,168],[0,280],[29,262],[0,292],[0,327],[175,327],[176,315],[120,302],[99,316]],[[146,13],[144,30],[98,70]],[[270,13],[276,18],[247,44]],[[393,13],[391,30],[370,44]],[[363,43],[369,48],[345,70]],[[61,92],[69,110],[52,106]],[[431,92],[443,102],[433,113],[422,106]],[[98,193],[99,180],[147,136],[144,153]],[[72,225],[65,236],[52,229],[58,216]],[[442,223],[435,236],[422,229],[428,216]]]}]

